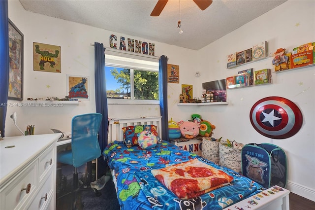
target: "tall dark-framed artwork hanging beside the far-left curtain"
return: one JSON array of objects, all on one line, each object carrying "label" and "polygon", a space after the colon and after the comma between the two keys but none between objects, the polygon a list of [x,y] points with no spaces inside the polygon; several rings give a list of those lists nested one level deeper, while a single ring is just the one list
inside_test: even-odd
[{"label": "tall dark-framed artwork hanging beside the far-left curtain", "polygon": [[23,100],[24,35],[9,19],[9,90],[8,99]]}]

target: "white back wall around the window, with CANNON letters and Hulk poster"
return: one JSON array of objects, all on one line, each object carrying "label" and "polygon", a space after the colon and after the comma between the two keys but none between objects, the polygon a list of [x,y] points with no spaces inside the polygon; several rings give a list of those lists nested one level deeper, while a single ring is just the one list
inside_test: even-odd
[{"label": "white back wall around the window, with CANNON letters and Hulk poster", "polygon": [[[197,58],[197,51],[176,47],[98,29],[83,24],[77,24],[61,19],[27,12],[19,1],[9,1],[9,18],[24,34],[24,100],[27,98],[64,98],[66,93],[66,75],[89,76],[89,101],[81,101],[79,105],[63,105],[63,107],[8,107],[5,136],[17,136],[20,132],[14,127],[9,116],[17,112],[17,125],[24,131],[26,125],[35,125],[35,134],[52,133],[50,128],[70,131],[71,119],[74,115],[95,112],[95,83],[94,83],[94,47],[91,43],[100,42],[109,46],[109,36],[115,34],[142,41],[155,43],[155,55],[167,55],[170,64],[180,65],[181,71],[188,72],[194,68],[190,58]],[[33,71],[32,44],[33,42],[61,46],[62,73]],[[106,51],[105,51],[106,52]],[[158,60],[157,60],[158,62]],[[181,82],[195,85],[191,80],[192,72],[182,73]],[[50,87],[47,88],[46,86]],[[181,92],[180,85],[170,84],[176,96]],[[196,89],[195,89],[196,90]],[[178,97],[176,97],[177,99]],[[19,103],[9,100],[9,103]],[[109,105],[110,118],[159,116],[159,105]],[[188,115],[189,116],[189,115]]]}]

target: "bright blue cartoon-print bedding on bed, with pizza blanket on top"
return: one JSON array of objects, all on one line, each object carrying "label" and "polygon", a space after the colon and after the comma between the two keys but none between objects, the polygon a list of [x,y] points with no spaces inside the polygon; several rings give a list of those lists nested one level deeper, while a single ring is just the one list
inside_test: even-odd
[{"label": "bright blue cartoon-print bedding on bed, with pizza blanket on top", "polygon": [[[107,145],[103,155],[109,168],[115,171],[122,210],[221,210],[263,190],[251,179],[168,141],[162,140],[147,150],[138,146],[128,148],[123,142],[114,141]],[[169,175],[162,173],[172,169],[177,170],[177,175],[173,174],[177,178],[185,173],[189,176],[181,178],[193,180],[192,176],[204,176],[197,177],[199,189],[190,192],[188,183],[180,180],[177,191],[172,192],[168,187],[172,185]]]}]

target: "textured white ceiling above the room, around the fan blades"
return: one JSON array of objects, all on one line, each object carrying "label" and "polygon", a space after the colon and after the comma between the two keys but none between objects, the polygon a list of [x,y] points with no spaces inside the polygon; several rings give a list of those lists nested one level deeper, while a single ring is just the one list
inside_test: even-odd
[{"label": "textured white ceiling above the room, around the fan blades", "polygon": [[[151,17],[157,0],[20,0],[27,11],[194,50],[285,1],[213,0],[202,11],[192,0],[169,0]],[[177,28],[180,7],[183,34]]]}]

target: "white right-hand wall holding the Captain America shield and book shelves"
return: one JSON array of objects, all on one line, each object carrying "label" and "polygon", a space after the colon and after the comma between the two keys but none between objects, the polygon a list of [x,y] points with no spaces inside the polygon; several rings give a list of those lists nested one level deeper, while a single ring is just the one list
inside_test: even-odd
[{"label": "white right-hand wall holding the Captain America shield and book shelves", "polygon": [[[299,12],[298,15],[296,11]],[[239,70],[272,69],[272,58],[226,69],[226,56],[251,48],[266,40],[269,52],[286,48],[287,52],[304,43],[315,41],[315,1],[289,0],[277,8],[225,35],[199,51],[199,83],[236,75]],[[268,142],[284,149],[288,161],[288,188],[315,201],[315,66],[272,73],[273,84],[227,90],[228,105],[198,107],[202,118],[217,126],[216,137],[243,143]],[[302,111],[303,125],[291,138],[273,140],[256,132],[250,122],[250,110],[258,100],[284,97]],[[185,107],[187,108],[187,107]]]}]

